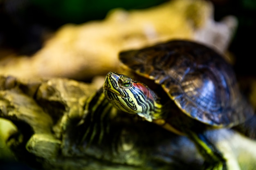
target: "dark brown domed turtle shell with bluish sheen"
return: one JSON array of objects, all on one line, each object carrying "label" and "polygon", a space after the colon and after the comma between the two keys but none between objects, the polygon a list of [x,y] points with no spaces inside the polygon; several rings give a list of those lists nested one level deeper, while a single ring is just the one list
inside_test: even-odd
[{"label": "dark brown domed turtle shell with bluish sheen", "polygon": [[160,84],[186,115],[212,126],[234,126],[253,115],[232,66],[213,49],[173,40],[119,54],[131,71]]}]

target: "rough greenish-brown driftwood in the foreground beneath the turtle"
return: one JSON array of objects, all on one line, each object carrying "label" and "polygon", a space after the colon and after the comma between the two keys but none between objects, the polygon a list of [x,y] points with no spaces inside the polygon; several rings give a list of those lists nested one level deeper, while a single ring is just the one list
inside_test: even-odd
[{"label": "rough greenish-brown driftwood in the foreground beneath the turtle", "polygon": [[[200,170],[194,144],[155,124],[114,112],[81,124],[86,99],[96,91],[70,79],[1,76],[0,117],[17,126],[7,145],[18,160],[47,170]],[[205,134],[228,163],[256,167],[254,141],[228,129]]]}]

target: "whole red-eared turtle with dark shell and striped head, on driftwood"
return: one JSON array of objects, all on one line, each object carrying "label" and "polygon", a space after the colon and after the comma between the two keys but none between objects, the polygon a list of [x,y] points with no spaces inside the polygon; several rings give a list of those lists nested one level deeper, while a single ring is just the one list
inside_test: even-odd
[{"label": "whole red-eared turtle with dark shell and striped head, on driftwood", "polygon": [[254,112],[221,54],[191,40],[171,40],[122,51],[119,60],[129,76],[109,72],[85,110],[96,114],[104,104],[138,115],[189,137],[204,157],[205,169],[230,169],[204,131],[242,124]]}]

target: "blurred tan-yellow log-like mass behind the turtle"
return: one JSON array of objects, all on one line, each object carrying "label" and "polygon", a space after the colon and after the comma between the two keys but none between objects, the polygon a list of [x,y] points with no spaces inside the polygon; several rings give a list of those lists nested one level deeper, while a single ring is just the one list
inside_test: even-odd
[{"label": "blurred tan-yellow log-like mass behind the turtle", "polygon": [[198,40],[224,52],[237,24],[230,18],[232,22],[220,22],[215,29],[213,6],[204,0],[173,0],[143,10],[114,9],[102,21],[64,25],[32,57],[2,59],[0,74],[91,79],[117,71],[121,50],[174,38]]}]

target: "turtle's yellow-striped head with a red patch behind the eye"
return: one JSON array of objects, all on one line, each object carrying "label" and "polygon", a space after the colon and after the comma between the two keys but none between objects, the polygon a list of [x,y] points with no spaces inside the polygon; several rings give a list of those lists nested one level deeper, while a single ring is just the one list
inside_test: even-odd
[{"label": "turtle's yellow-striped head with a red patch behind the eye", "polygon": [[103,93],[115,108],[137,114],[148,121],[157,119],[162,105],[157,95],[145,84],[130,77],[109,72],[103,85]]}]

